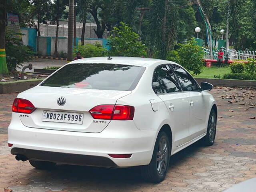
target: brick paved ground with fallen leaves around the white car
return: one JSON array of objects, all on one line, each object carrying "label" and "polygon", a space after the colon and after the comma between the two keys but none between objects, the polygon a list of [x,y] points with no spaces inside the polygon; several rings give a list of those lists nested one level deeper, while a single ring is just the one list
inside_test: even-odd
[{"label": "brick paved ground with fallen leaves around the white car", "polygon": [[6,146],[16,94],[0,94],[0,191],[217,192],[256,177],[256,119],[249,118],[256,116],[256,90],[217,87],[211,92],[219,112],[215,144],[195,143],[172,156],[160,184],[142,181],[135,168],[58,165],[56,170],[44,171],[16,161]]}]

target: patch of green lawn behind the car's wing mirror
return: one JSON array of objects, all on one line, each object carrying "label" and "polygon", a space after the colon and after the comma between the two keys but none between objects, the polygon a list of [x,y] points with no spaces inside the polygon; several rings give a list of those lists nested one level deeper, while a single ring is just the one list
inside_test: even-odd
[{"label": "patch of green lawn behind the car's wing mirror", "polygon": [[223,78],[223,75],[226,73],[231,73],[231,70],[229,67],[204,67],[203,72],[199,75],[195,75],[196,78],[214,78],[214,75],[220,75],[220,78]]}]

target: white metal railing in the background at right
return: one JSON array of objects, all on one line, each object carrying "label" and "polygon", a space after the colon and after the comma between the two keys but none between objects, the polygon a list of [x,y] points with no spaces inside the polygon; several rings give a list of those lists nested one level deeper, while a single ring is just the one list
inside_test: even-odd
[{"label": "white metal railing in the background at right", "polygon": [[[204,51],[204,58],[210,58],[210,50],[202,47],[202,50]],[[224,51],[224,57],[226,55],[226,48],[222,47],[222,50]],[[214,56],[217,58],[218,56],[218,50],[214,50]],[[230,60],[248,60],[248,58],[256,58],[256,51],[237,51],[228,49],[228,56]]]}]

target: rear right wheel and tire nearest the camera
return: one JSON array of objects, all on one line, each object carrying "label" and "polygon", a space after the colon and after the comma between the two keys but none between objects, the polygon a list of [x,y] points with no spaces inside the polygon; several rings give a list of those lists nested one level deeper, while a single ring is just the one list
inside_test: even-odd
[{"label": "rear right wheel and tire nearest the camera", "polygon": [[159,132],[150,164],[141,166],[141,175],[145,181],[159,183],[164,180],[169,168],[170,151],[170,139],[166,132]]}]

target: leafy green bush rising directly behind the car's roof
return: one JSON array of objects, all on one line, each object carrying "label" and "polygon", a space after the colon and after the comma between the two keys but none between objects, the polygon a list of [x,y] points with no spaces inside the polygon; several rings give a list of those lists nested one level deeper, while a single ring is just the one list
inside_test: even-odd
[{"label": "leafy green bush rising directly behind the car's roof", "polygon": [[147,47],[140,41],[140,36],[126,23],[114,27],[108,38],[110,56],[147,57]]}]

